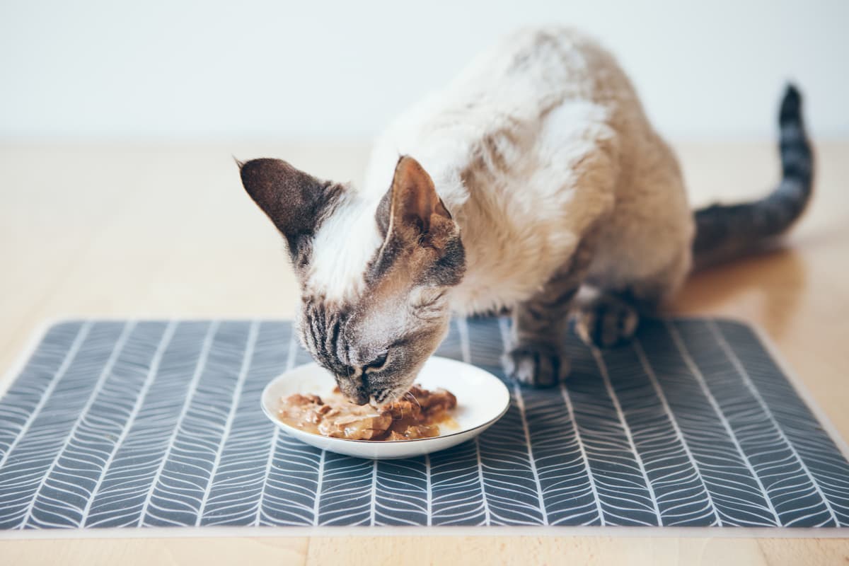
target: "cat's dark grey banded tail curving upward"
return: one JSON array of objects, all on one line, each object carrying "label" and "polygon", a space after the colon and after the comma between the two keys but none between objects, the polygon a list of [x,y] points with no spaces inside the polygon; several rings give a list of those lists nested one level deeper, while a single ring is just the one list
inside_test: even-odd
[{"label": "cat's dark grey banded tail curving upward", "polygon": [[801,115],[801,94],[793,85],[784,92],[779,125],[779,186],[760,200],[696,210],[696,269],[761,248],[786,232],[804,212],[812,194],[813,154]]}]

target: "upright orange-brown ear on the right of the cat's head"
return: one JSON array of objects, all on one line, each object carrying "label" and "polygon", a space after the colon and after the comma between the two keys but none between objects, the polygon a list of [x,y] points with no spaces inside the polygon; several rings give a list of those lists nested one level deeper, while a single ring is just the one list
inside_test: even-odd
[{"label": "upright orange-brown ear on the right of the cat's head", "polygon": [[408,155],[398,160],[392,186],[380,201],[377,221],[385,238],[436,248],[456,233],[456,224],[430,175]]}]

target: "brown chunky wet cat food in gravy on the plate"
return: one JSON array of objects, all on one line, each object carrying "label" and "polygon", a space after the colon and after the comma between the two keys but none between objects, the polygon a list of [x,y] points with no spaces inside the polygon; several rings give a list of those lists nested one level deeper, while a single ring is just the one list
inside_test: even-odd
[{"label": "brown chunky wet cat food in gravy on the plate", "polygon": [[413,440],[439,435],[451,420],[457,398],[446,389],[429,391],[413,385],[401,401],[384,406],[356,405],[339,391],[324,399],[295,393],[282,400],[278,417],[313,434],[348,440]]}]

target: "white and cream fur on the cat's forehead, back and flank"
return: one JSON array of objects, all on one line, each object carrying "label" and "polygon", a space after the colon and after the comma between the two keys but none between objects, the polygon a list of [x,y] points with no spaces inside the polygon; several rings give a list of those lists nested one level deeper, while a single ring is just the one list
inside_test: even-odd
[{"label": "white and cream fur on the cat's forehead, back and flank", "polygon": [[693,221],[674,155],[610,54],[575,31],[509,36],[379,138],[362,191],[326,221],[311,283],[362,289],[380,245],[374,210],[399,154],[424,166],[461,229],[467,271],[455,311],[514,305],[600,230],[591,275],[672,292]]}]

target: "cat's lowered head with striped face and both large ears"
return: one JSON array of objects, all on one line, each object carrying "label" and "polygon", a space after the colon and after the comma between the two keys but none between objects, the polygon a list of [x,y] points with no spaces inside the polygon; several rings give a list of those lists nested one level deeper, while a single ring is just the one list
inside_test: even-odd
[{"label": "cat's lowered head with striped face and both large ears", "polygon": [[403,156],[382,196],[282,160],[240,164],[242,184],[283,234],[301,283],[301,343],[352,401],[406,392],[445,336],[465,255],[430,176]]}]

